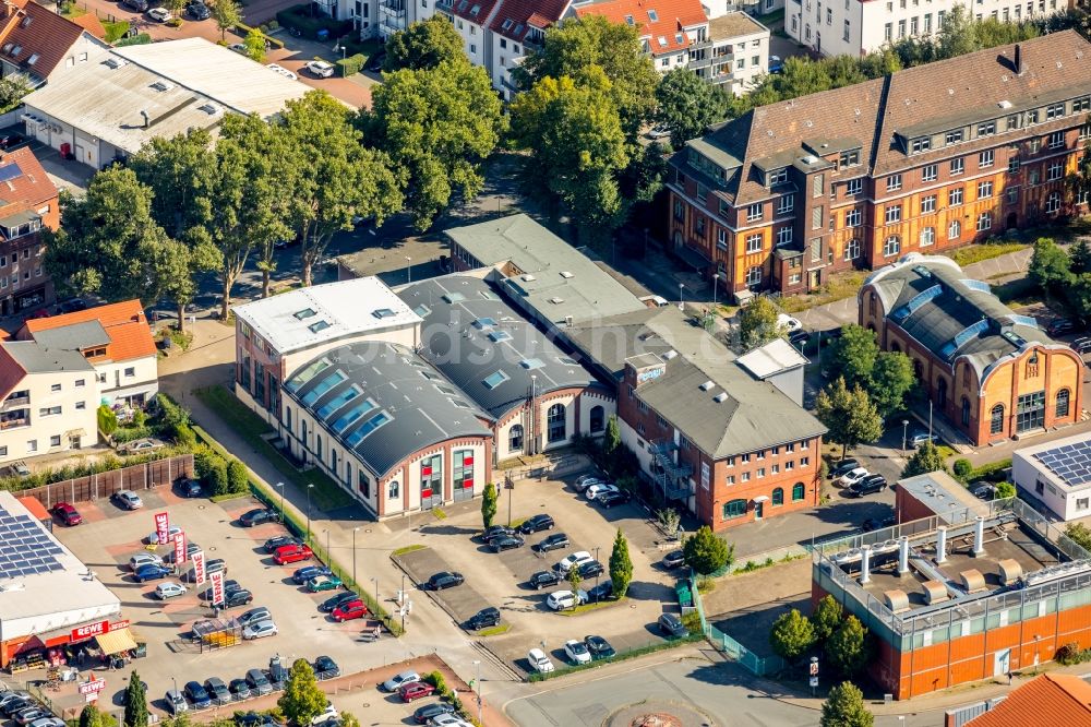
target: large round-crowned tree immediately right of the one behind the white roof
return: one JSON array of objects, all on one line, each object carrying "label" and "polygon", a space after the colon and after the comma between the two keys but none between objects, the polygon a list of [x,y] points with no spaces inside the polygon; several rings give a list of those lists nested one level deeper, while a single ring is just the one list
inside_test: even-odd
[{"label": "large round-crowned tree immediately right of the one behind the white roof", "polygon": [[459,51],[435,68],[386,73],[371,100],[371,111],[361,112],[364,139],[386,153],[408,184],[405,204],[418,230],[431,227],[453,201],[481,191],[481,165],[505,130],[500,98],[483,68]]}]

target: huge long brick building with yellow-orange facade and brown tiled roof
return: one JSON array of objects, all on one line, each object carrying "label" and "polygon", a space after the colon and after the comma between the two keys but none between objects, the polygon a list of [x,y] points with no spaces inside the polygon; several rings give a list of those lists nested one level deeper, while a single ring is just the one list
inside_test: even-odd
[{"label": "huge long brick building with yellow-orange facade and brown tiled roof", "polygon": [[755,108],[672,158],[671,246],[745,300],[1084,211],[1089,110],[1075,31]]}]

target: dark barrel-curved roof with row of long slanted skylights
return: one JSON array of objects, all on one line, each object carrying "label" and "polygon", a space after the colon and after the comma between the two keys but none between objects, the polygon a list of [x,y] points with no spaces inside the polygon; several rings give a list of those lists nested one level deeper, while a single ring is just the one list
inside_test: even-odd
[{"label": "dark barrel-curved roof with row of long slanted skylights", "polygon": [[481,421],[487,415],[405,346],[362,342],[327,350],[297,369],[285,390],[379,477],[448,439],[492,437]]}]

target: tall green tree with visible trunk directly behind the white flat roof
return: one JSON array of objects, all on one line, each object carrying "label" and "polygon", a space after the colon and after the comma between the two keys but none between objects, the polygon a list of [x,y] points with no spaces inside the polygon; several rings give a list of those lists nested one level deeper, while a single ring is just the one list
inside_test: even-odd
[{"label": "tall green tree with visible trunk directly behind the white flat roof", "polygon": [[[304,286],[312,270],[325,255],[337,230],[352,228],[353,217],[374,218],[381,225],[401,207],[401,180],[382,152],[360,145],[361,134],[349,119],[349,110],[322,91],[289,100],[277,117],[278,131],[291,150],[287,162],[298,163],[290,210],[293,227],[302,240],[300,260]],[[286,159],[278,159],[280,165]]]}]

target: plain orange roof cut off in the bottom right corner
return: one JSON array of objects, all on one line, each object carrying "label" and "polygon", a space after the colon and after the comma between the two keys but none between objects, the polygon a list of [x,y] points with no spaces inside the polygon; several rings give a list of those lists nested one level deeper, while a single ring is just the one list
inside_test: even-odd
[{"label": "plain orange roof cut off in the bottom right corner", "polygon": [[1043,674],[967,727],[1046,727],[1091,724],[1091,684],[1075,675]]}]

